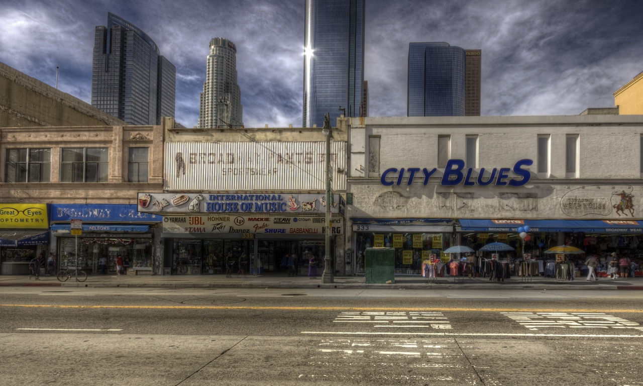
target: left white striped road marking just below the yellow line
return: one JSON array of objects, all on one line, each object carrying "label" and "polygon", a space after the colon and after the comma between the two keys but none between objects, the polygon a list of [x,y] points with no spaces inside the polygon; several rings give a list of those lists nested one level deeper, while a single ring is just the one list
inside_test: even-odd
[{"label": "left white striped road marking just below the yellow line", "polygon": [[343,312],[334,323],[367,323],[373,327],[451,329],[441,312]]}]

